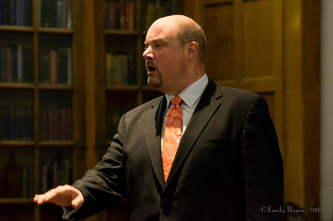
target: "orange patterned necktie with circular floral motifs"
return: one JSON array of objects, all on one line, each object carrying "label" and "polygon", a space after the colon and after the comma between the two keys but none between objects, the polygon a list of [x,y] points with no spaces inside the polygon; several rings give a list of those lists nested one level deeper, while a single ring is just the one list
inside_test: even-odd
[{"label": "orange patterned necktie with circular floral motifs", "polygon": [[165,118],[162,148],[163,173],[165,181],[169,176],[172,162],[176,156],[182,134],[182,114],[179,107],[181,102],[181,98],[179,96],[175,96],[172,99],[170,110]]}]

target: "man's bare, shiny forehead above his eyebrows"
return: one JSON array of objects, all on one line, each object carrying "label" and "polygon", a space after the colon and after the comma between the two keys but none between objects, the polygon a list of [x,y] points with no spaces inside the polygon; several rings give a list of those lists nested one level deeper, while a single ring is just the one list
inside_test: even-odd
[{"label": "man's bare, shiny forehead above his eyebrows", "polygon": [[145,37],[145,42],[154,41],[157,39],[163,39],[165,41],[170,41],[173,38],[176,38],[176,27],[172,24],[164,24],[164,23],[153,23],[147,32],[147,36]]}]

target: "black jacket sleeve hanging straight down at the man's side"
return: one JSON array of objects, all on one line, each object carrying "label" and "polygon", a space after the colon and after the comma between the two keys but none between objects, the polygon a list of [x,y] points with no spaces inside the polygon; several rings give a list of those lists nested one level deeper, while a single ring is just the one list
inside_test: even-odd
[{"label": "black jacket sleeve hanging straight down at the man's side", "polygon": [[281,220],[283,162],[266,101],[256,96],[242,133],[246,220]]}]

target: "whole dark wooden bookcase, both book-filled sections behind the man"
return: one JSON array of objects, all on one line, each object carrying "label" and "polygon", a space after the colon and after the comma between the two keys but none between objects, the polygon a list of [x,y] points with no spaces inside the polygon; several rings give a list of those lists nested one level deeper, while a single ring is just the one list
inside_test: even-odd
[{"label": "whole dark wooden bookcase, both book-filled sections behind the man", "polygon": [[[82,177],[121,115],[161,95],[147,85],[143,42],[156,18],[182,11],[176,0],[0,0],[0,220],[61,220],[33,195]],[[125,204],[98,220],[126,219]]]}]

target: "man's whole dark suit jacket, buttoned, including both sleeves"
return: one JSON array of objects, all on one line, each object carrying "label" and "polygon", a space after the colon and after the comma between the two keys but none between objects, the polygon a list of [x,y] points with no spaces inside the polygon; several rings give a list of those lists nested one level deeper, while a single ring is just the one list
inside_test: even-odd
[{"label": "man's whole dark suit jacket, buttoned, including both sleeves", "polygon": [[122,116],[107,154],[74,184],[85,197],[74,217],[125,198],[131,220],[279,220],[260,211],[283,202],[282,158],[263,97],[210,80],[164,183],[165,103],[161,96]]}]

